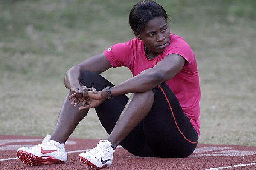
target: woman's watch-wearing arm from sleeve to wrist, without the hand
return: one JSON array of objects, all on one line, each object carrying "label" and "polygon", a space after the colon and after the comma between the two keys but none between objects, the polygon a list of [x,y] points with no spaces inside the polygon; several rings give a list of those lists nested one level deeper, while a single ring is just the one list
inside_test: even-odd
[{"label": "woman's watch-wearing arm from sleeve to wrist, without the hand", "polygon": [[185,59],[183,57],[178,54],[169,54],[153,68],[144,70],[137,76],[112,87],[111,94],[112,96],[118,96],[132,92],[148,91],[162,82],[172,79],[180,72],[184,64]]}]

